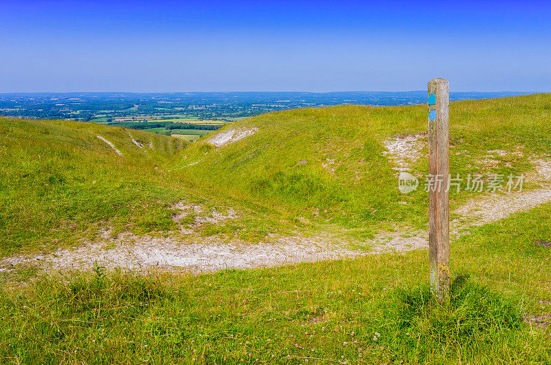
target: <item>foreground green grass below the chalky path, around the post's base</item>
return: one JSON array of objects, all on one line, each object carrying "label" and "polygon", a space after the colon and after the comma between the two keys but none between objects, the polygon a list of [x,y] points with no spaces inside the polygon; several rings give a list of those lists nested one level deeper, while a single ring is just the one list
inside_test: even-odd
[{"label": "foreground green grass below the chalky path, around the post's base", "polygon": [[[536,219],[537,218],[537,219]],[[39,276],[0,293],[12,363],[548,363],[551,205],[451,248],[450,304],[428,294],[426,251],[208,275]],[[23,275],[28,275],[23,273]]]}]

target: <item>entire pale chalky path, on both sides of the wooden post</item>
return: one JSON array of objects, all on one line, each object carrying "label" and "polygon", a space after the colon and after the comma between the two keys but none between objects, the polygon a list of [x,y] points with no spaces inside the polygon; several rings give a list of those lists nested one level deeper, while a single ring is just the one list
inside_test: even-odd
[{"label": "entire pale chalky path, on both sides of the wooden post", "polygon": [[[528,210],[551,201],[551,188],[523,191],[506,196],[487,196],[469,202],[457,209],[464,219],[452,222],[452,237],[459,237],[461,229],[469,225],[482,225],[506,218],[515,211]],[[183,206],[187,208],[187,206]],[[198,210],[197,207],[191,206]],[[183,210],[185,212],[185,210]],[[185,213],[176,215],[181,219]],[[196,224],[213,218],[196,218]],[[220,216],[231,219],[232,215]],[[183,233],[191,233],[183,230]],[[362,242],[366,250],[349,249],[347,242],[334,234],[317,236],[273,236],[267,242],[250,244],[240,240],[223,240],[218,237],[203,238],[193,234],[169,237],[134,236],[123,233],[112,238],[103,232],[101,240],[83,244],[75,249],[59,249],[44,255],[14,255],[0,260],[0,271],[17,264],[39,262],[46,271],[66,269],[90,269],[94,264],[104,267],[123,267],[144,271],[158,267],[167,271],[211,272],[226,268],[251,269],[272,267],[298,262],[315,262],[326,259],[355,257],[384,252],[404,253],[426,249],[428,231],[398,231],[381,233],[372,240]]]}]

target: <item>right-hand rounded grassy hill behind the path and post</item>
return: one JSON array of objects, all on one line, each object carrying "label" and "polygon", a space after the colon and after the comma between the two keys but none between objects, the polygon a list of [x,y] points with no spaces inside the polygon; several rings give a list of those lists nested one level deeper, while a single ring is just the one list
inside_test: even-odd
[{"label": "right-hand rounded grassy hill behind the path and post", "polygon": [[[550,108],[551,94],[451,103],[451,173],[507,176],[528,171],[528,156],[550,150]],[[292,110],[248,118],[222,131],[251,127],[258,132],[219,149],[205,138],[194,143],[180,169],[213,196],[256,202],[268,216],[278,211],[274,221],[284,218],[300,225],[296,218],[302,216],[352,229],[359,236],[397,222],[426,224],[427,194],[422,189],[400,194],[395,171],[383,156],[386,138],[426,131],[425,106]],[[499,163],[493,167],[475,163],[495,149],[520,149],[523,157],[497,156]],[[334,160],[334,173],[322,166],[328,158]],[[426,176],[427,159],[413,168]],[[452,206],[467,195],[452,194]]]}]

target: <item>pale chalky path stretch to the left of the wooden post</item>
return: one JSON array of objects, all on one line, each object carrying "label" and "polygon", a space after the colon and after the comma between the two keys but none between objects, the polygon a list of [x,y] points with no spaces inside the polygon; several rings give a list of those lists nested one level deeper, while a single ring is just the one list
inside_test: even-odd
[{"label": "pale chalky path stretch to the left of the wooden post", "polygon": [[211,272],[226,268],[251,269],[273,267],[298,262],[338,259],[388,251],[406,252],[426,246],[426,238],[382,235],[372,241],[368,251],[346,249],[344,242],[332,235],[277,236],[269,242],[250,244],[239,240],[229,242],[216,237],[184,239],[173,237],[134,236],[131,233],[103,239],[75,249],[59,249],[45,255],[15,255],[0,262],[0,271],[10,267],[39,262],[46,271],[123,267],[143,271],[158,267],[167,271]]}]

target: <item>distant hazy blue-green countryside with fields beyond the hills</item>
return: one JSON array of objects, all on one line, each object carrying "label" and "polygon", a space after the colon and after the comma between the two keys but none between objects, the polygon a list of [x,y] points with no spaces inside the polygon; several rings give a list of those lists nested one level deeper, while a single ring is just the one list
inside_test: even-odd
[{"label": "distant hazy blue-green countryside with fields beyond the hills", "polygon": [[[523,92],[452,92],[453,101]],[[193,142],[248,116],[330,105],[416,105],[426,92],[185,92],[0,94],[0,116],[62,119],[114,125]]]}]

